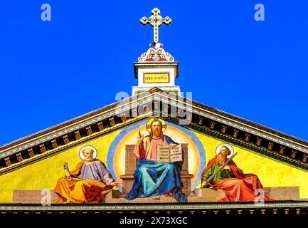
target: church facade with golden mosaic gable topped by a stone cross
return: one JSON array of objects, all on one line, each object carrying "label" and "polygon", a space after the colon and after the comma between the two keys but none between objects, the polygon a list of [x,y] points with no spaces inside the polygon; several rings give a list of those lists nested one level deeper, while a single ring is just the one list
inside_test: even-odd
[{"label": "church facade with golden mosaic gable topped by a stone cross", "polygon": [[185,98],[141,22],[132,97],[0,147],[1,212],[307,213],[308,142]]}]

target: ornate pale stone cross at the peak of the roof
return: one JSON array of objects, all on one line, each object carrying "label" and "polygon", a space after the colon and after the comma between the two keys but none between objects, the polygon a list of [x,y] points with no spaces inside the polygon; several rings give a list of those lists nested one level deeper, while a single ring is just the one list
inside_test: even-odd
[{"label": "ornate pale stone cross at the peak of the roof", "polygon": [[145,26],[147,24],[150,24],[152,27],[154,27],[154,43],[159,42],[159,26],[161,24],[169,25],[171,23],[171,18],[169,16],[166,16],[165,18],[162,18],[159,14],[161,11],[157,8],[152,9],[152,16],[147,18],[144,16],[142,19],[140,19],[140,22]]}]

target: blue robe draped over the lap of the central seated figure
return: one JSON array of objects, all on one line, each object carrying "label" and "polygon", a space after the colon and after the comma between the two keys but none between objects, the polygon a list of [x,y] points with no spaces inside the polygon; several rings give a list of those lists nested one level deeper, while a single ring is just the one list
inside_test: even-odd
[{"label": "blue robe draped over the lap of the central seated figure", "polygon": [[[168,144],[176,143],[168,136],[165,137]],[[177,202],[187,202],[187,196],[181,191],[181,167],[182,162],[137,160],[134,184],[125,199],[155,197],[173,190]]]}]

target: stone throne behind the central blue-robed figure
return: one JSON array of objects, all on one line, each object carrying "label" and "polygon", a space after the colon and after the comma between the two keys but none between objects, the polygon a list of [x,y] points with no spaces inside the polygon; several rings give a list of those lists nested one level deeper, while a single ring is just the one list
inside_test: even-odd
[{"label": "stone throne behind the central blue-robed figure", "polygon": [[[188,144],[182,143],[183,166],[181,170],[181,180],[183,182],[182,192],[186,195],[191,193],[192,174],[188,173]],[[134,170],[136,169],[137,158],[133,155],[135,145],[125,145],[125,174],[121,175],[122,179],[122,196],[124,197],[132,189],[134,183]]]}]

